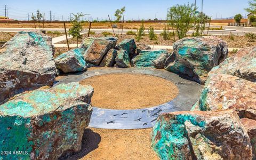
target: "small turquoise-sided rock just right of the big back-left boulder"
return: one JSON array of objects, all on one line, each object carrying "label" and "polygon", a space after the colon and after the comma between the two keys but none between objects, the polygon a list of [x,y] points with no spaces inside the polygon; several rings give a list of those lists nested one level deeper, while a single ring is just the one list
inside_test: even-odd
[{"label": "small turquoise-sided rock just right of the big back-left boulder", "polygon": [[77,48],[55,58],[55,65],[63,73],[74,73],[86,70],[86,61],[83,57],[85,49]]}]

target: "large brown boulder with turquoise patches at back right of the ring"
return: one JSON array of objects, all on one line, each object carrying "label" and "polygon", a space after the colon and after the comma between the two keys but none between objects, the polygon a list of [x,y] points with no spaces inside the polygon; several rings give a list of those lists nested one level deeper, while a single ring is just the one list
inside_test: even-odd
[{"label": "large brown boulder with turquoise patches at back right of the ring", "polygon": [[209,71],[228,55],[227,43],[214,36],[183,38],[173,44],[175,61],[165,69],[204,83]]}]

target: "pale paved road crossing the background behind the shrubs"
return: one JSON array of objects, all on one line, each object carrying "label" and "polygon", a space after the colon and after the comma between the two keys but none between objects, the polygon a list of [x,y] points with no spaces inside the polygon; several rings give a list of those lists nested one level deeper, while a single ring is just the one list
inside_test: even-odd
[{"label": "pale paved road crossing the background behind the shrubs", "polygon": [[[220,27],[220,26],[211,26],[211,27]],[[244,33],[249,33],[249,32],[253,32],[256,33],[256,28],[254,27],[233,27],[233,26],[223,26],[224,29],[226,29],[225,31],[223,30],[215,30],[215,31],[209,31],[209,34],[211,35],[229,35],[230,32],[233,33],[234,35],[244,35]],[[5,31],[5,32],[18,32],[21,30],[34,30],[34,28],[0,28],[0,31]],[[63,28],[45,28],[46,31],[61,31],[64,32],[65,30]],[[95,31],[95,33],[102,33],[103,31],[109,31],[112,32],[112,29],[91,29],[92,31]],[[133,30],[133,31],[137,31],[135,29],[124,29],[123,33],[126,33],[129,30]],[[87,32],[87,29],[84,29],[83,32]],[[119,32],[121,32],[121,30],[119,30]],[[147,33],[148,30],[145,30],[145,32]],[[162,33],[163,30],[155,30],[156,34],[160,34]],[[115,29],[115,33],[117,33],[117,29]],[[193,31],[188,31],[188,34],[193,33]]]}]

